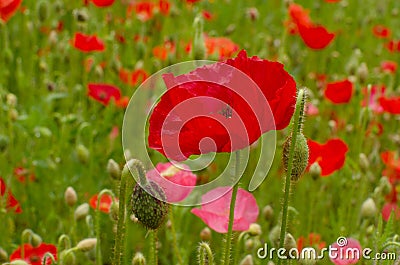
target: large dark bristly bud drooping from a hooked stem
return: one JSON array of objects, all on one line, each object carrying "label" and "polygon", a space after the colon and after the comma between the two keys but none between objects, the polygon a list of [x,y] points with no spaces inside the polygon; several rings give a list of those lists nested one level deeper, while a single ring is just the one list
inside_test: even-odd
[{"label": "large dark bristly bud drooping from a hooked stem", "polygon": [[[144,189],[136,184],[132,193],[132,211],[147,229],[160,227],[168,212],[165,193],[157,183],[149,181]],[[160,198],[161,200],[159,200]]]}]

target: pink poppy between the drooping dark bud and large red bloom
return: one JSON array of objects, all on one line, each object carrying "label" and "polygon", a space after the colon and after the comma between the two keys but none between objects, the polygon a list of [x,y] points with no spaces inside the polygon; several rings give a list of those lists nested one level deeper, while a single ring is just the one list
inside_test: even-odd
[{"label": "pink poppy between the drooping dark bud and large red bloom", "polygon": [[183,201],[196,185],[197,177],[187,165],[174,166],[172,163],[159,163],[146,174],[164,190],[168,202]]}]

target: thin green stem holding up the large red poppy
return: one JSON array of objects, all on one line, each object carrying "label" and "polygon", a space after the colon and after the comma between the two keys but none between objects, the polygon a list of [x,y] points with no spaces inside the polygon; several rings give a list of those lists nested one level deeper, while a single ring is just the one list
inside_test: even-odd
[{"label": "thin green stem holding up the large red poppy", "polygon": [[[235,176],[239,173],[240,167],[240,151],[235,152],[235,175],[232,177],[234,180]],[[231,259],[231,244],[232,244],[232,232],[233,232],[233,220],[235,218],[235,204],[236,204],[236,196],[239,189],[239,182],[235,183],[232,189],[232,198],[231,204],[229,206],[229,223],[228,223],[228,233],[225,237],[225,249],[224,249],[224,258],[223,263],[224,265],[229,265]]]}]

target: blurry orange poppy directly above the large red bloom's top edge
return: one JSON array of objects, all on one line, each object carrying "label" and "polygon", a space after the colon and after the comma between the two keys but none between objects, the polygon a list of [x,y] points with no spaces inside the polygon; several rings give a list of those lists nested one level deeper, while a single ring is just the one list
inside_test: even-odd
[{"label": "blurry orange poppy directly above the large red bloom's top edge", "polygon": [[238,51],[239,46],[226,37],[207,37],[204,38],[207,55],[218,54],[219,59],[227,59]]}]

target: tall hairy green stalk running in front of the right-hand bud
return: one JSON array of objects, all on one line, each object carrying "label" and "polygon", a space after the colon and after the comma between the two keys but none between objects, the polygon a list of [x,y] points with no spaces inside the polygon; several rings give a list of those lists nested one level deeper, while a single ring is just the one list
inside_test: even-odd
[{"label": "tall hairy green stalk running in front of the right-hand bud", "polygon": [[[283,248],[286,237],[286,228],[287,228],[287,220],[288,220],[288,208],[289,208],[289,200],[290,200],[290,187],[291,187],[291,176],[292,176],[292,167],[293,167],[293,158],[294,158],[294,149],[296,146],[297,134],[301,130],[302,120],[303,120],[303,112],[304,112],[304,103],[305,103],[305,92],[303,89],[299,90],[296,101],[296,111],[293,118],[293,127],[292,127],[292,140],[290,142],[289,149],[289,160],[285,178],[285,187],[284,187],[284,198],[282,205],[282,221],[281,221],[281,233],[279,240],[279,248]],[[286,261],[286,260],[285,260]],[[278,265],[282,263],[282,259],[278,259]]]}]

